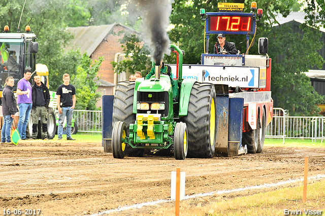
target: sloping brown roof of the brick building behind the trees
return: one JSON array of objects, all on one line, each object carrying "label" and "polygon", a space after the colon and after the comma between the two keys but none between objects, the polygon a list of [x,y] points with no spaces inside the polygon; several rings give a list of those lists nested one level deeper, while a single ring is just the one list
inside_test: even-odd
[{"label": "sloping brown roof of the brick building behind the trees", "polygon": [[90,56],[106,38],[107,34],[109,34],[113,27],[117,25],[123,26],[127,30],[134,31],[132,28],[119,23],[113,23],[110,25],[69,27],[68,30],[74,35],[74,39],[66,50],[76,50],[80,48],[81,53],[87,52]]}]

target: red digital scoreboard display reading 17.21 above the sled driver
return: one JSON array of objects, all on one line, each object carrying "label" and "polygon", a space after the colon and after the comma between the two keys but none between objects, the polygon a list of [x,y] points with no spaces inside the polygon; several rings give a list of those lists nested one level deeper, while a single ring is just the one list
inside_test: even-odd
[{"label": "red digital scoreboard display reading 17.21 above the sled driver", "polygon": [[208,15],[208,33],[253,33],[255,31],[255,16],[243,13],[213,13]]}]

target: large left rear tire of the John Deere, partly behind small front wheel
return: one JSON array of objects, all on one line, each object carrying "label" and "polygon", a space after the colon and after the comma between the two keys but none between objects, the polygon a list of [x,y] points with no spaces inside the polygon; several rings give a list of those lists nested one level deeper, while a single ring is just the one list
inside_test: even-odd
[{"label": "large left rear tire of the John Deere, partly behind small front wheel", "polygon": [[[113,124],[117,121],[124,122],[128,133],[129,124],[134,124],[136,121],[136,115],[133,114],[134,84],[129,81],[119,82],[113,103]],[[126,149],[130,157],[141,157],[144,153],[144,149],[133,149],[129,145],[126,145]]]}]

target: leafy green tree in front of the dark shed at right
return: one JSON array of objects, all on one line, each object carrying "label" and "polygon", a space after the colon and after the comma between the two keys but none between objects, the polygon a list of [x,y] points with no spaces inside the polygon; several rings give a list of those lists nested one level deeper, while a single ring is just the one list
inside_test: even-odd
[{"label": "leafy green tree in front of the dark shed at right", "polygon": [[287,109],[290,115],[309,116],[319,112],[317,104],[323,103],[324,100],[314,92],[309,78],[303,72],[308,71],[311,65],[321,67],[323,60],[316,51],[302,49],[302,46],[322,46],[319,42],[319,32],[304,27],[306,32],[303,37],[299,33],[294,34],[290,26],[272,28],[268,37],[273,39],[269,44],[270,56],[278,56],[279,51],[284,56],[282,61],[273,58],[272,97],[278,106]]}]

